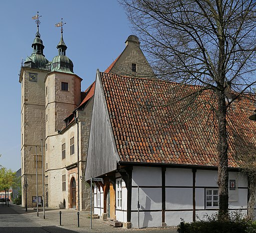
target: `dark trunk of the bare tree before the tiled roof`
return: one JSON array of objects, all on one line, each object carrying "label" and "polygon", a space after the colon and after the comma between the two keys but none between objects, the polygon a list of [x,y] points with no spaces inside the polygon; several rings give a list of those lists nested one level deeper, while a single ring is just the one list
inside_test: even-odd
[{"label": "dark trunk of the bare tree before the tiled roof", "polygon": [[224,90],[217,90],[218,95],[218,191],[219,217],[228,217],[228,158],[226,136],[226,103]]}]

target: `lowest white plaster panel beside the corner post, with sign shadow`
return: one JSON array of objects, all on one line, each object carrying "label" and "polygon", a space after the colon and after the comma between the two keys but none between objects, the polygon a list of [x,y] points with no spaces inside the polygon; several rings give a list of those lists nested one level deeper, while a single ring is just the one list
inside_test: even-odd
[{"label": "lowest white plaster panel beside the corner post, with sign shadow", "polygon": [[[138,227],[138,213],[131,212],[131,227]],[[158,227],[162,224],[161,211],[139,212],[139,227]]]}]

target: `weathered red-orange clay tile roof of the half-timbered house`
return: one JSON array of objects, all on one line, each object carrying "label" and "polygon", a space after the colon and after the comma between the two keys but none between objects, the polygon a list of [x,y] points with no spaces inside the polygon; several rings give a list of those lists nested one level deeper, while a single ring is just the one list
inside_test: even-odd
[{"label": "weathered red-orange clay tile roof of the half-timbered house", "polygon": [[[111,73],[100,75],[121,161],[218,165],[217,121],[211,111],[215,108],[211,100],[214,92],[205,90],[196,104],[186,105],[177,99],[202,87]],[[238,166],[234,159],[237,131],[256,145],[256,122],[248,119],[255,102],[255,95],[247,94],[228,108],[230,167]]]}]

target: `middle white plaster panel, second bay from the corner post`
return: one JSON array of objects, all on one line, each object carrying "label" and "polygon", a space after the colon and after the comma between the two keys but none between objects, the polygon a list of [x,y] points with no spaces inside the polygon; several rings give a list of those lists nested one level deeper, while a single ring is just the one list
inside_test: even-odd
[{"label": "middle white plaster panel, second bay from the corner post", "polygon": [[192,188],[165,188],[166,209],[192,209]]}]

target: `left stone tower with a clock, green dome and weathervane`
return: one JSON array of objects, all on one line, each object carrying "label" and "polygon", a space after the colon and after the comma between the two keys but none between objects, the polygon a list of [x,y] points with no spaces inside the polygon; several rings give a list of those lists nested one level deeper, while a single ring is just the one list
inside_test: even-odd
[{"label": "left stone tower with a clock, green dome and weathervane", "polygon": [[[43,54],[44,46],[40,38],[38,18],[37,12],[37,15],[33,17],[36,19],[37,31],[32,43],[32,54],[22,63],[19,73],[21,83],[21,190],[22,206],[25,206],[27,202],[27,207],[36,206],[36,167],[38,201],[42,197],[41,154],[44,150],[45,139],[44,77],[49,70],[47,69],[48,60]],[[43,148],[41,148],[41,143]],[[25,186],[27,186],[26,192]]]}]

